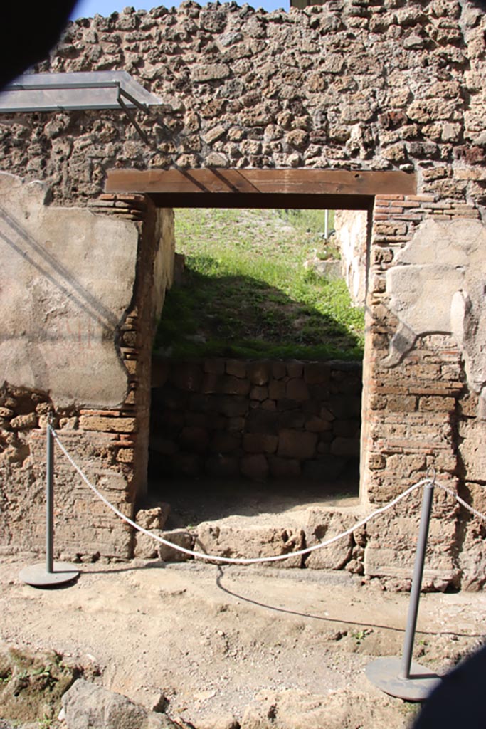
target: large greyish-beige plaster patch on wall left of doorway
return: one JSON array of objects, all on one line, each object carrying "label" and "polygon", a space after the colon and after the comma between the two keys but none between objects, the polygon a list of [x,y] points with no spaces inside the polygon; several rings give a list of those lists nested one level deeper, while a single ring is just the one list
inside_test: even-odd
[{"label": "large greyish-beige plaster patch on wall left of doorway", "polygon": [[47,391],[58,405],[113,407],[127,390],[116,337],[138,231],[47,197],[41,182],[0,174],[0,383]]}]

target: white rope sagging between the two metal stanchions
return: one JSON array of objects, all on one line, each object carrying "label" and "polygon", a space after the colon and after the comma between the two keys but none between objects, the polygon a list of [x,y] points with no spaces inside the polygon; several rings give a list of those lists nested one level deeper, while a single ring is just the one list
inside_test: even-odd
[{"label": "white rope sagging between the two metal stanchions", "polygon": [[82,478],[82,480],[85,482],[85,484],[88,486],[88,488],[93,491],[93,494],[98,496],[98,499],[101,499],[103,504],[105,504],[109,509],[111,509],[114,514],[116,514],[120,519],[125,521],[126,523],[130,524],[130,526],[133,527],[133,529],[136,529],[137,531],[141,531],[142,534],[146,534],[148,537],[151,537],[156,542],[160,542],[160,544],[165,545],[166,547],[172,547],[178,552],[187,554],[191,557],[195,557],[198,559],[203,559],[205,561],[211,561],[211,562],[224,562],[224,564],[263,564],[264,562],[278,562],[284,559],[289,559],[290,557],[298,557],[305,554],[310,554],[311,552],[322,549],[323,547],[329,547],[329,545],[334,544],[334,542],[337,542],[339,539],[343,539],[344,537],[348,537],[350,534],[353,533],[353,531],[356,531],[356,529],[360,529],[361,526],[364,526],[369,521],[371,521],[373,518],[380,514],[384,514],[389,509],[392,509],[396,504],[401,502],[402,499],[405,499],[409,494],[412,494],[412,491],[416,491],[416,489],[420,488],[421,486],[424,486],[426,483],[434,483],[434,486],[439,486],[439,488],[442,488],[442,491],[445,491],[447,494],[452,496],[456,501],[458,501],[461,506],[465,507],[467,510],[469,510],[472,514],[477,516],[482,521],[486,522],[486,516],[483,515],[481,512],[477,511],[473,507],[471,507],[467,502],[465,502],[463,499],[460,499],[460,497],[452,491],[452,489],[447,488],[447,486],[443,486],[441,483],[436,482],[435,480],[435,473],[433,477],[426,477],[422,480],[418,481],[417,483],[414,483],[413,486],[409,486],[405,491],[403,491],[399,496],[396,496],[395,499],[392,499],[391,502],[388,502],[388,504],[385,504],[385,506],[380,507],[379,509],[376,509],[374,512],[369,514],[364,519],[361,519],[361,521],[356,522],[353,526],[351,526],[349,529],[345,529],[345,531],[342,531],[340,534],[336,534],[334,537],[331,537],[330,539],[325,539],[324,542],[318,542],[316,545],[312,545],[311,547],[305,547],[305,549],[297,550],[296,552],[289,552],[287,554],[281,554],[281,555],[274,555],[272,557],[254,557],[254,558],[232,558],[232,557],[220,557],[218,555],[208,555],[204,552],[197,552],[195,550],[189,550],[186,547],[181,547],[179,545],[174,544],[173,542],[169,542],[168,539],[164,539],[163,537],[159,537],[158,534],[154,534],[152,531],[149,531],[149,529],[145,529],[143,526],[140,526],[140,524],[137,524],[135,521],[130,519],[128,516],[125,516],[117,507],[114,506],[114,504],[111,504],[108,499],[106,499],[103,494],[101,494],[100,491],[98,491],[98,488],[93,486],[93,483],[90,482],[90,480],[87,478],[84,472],[82,472],[82,469],[77,465],[77,463],[72,459],[71,455],[68,453],[66,448],[64,447],[63,443],[61,442],[58,434],[55,432],[55,430],[52,428],[52,426],[48,426],[50,428],[50,432],[52,433],[52,437],[54,437],[56,443],[58,444],[60,451],[63,452],[64,456],[66,456],[66,459],[68,459],[71,466],[77,471],[79,476]]}]

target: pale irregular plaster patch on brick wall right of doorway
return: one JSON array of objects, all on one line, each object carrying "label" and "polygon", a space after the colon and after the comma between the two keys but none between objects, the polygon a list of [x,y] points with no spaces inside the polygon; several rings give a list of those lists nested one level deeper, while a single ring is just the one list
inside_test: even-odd
[{"label": "pale irregular plaster patch on brick wall right of doorway", "polygon": [[454,335],[471,390],[486,414],[486,227],[477,220],[428,220],[386,273],[388,307],[399,319],[385,367],[418,337]]}]

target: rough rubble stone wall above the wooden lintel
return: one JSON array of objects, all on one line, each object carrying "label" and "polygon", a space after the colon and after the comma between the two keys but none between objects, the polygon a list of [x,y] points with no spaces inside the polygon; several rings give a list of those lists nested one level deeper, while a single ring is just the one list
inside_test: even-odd
[{"label": "rough rubble stone wall above the wooden lintel", "polygon": [[184,2],[70,23],[39,71],[129,71],[164,102],[0,117],[0,168],[93,198],[113,167],[416,171],[485,203],[485,24],[474,2],[327,0],[290,12]]}]

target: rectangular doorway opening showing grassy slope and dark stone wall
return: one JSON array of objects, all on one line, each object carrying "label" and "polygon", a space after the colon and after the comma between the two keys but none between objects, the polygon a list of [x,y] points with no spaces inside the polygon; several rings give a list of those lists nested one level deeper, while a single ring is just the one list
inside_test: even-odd
[{"label": "rectangular doorway opening showing grassy slope and dark stone wall", "polygon": [[144,504],[167,528],[358,503],[368,217],[176,208]]}]

